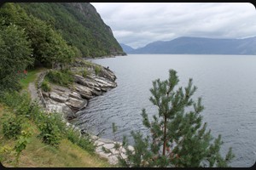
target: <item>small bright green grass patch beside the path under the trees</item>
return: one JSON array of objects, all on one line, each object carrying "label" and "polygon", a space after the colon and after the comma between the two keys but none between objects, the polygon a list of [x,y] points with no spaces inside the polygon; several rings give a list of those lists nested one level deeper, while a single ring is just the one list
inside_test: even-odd
[{"label": "small bright green grass patch beside the path under the trees", "polygon": [[35,80],[37,78],[37,74],[40,71],[44,71],[44,70],[46,70],[46,69],[45,68],[37,68],[37,69],[32,70],[32,71],[27,71],[26,77],[22,78],[20,80],[20,84],[21,84],[22,89],[27,89],[30,82],[35,82]]}]

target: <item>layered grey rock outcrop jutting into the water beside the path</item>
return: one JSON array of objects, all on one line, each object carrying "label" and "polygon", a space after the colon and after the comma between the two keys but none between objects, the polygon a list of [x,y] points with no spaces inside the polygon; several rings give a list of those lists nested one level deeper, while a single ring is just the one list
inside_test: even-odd
[{"label": "layered grey rock outcrop jutting into the water beside the path", "polygon": [[[88,105],[90,99],[117,87],[112,71],[101,66],[101,71],[96,75],[91,67],[93,66],[86,68],[90,71],[90,75],[86,77],[74,74],[73,86],[70,88],[50,84],[50,92],[42,92],[46,110],[59,112],[65,119],[71,120],[76,117],[77,111]],[[79,68],[81,65],[74,67],[73,71],[76,72]]]}]

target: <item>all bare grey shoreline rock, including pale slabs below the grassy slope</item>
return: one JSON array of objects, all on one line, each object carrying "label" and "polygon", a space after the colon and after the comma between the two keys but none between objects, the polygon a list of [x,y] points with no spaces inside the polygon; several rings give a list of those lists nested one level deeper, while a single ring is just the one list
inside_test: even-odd
[{"label": "all bare grey shoreline rock, including pale slabs below the grassy slope", "polygon": [[[97,74],[95,73],[96,66],[101,68]],[[51,83],[50,92],[44,92],[41,88],[41,84],[44,81],[44,77],[48,71],[42,72],[37,81],[38,97],[40,99],[39,103],[44,106],[44,110],[47,112],[55,111],[61,114],[63,120],[67,122],[67,126],[73,126],[73,128],[79,130],[80,133],[82,133],[83,130],[79,129],[79,127],[75,127],[68,121],[77,117],[76,113],[84,110],[84,108],[86,108],[90,102],[90,99],[102,95],[108,92],[108,90],[117,87],[117,83],[115,82],[117,77],[113,74],[113,71],[110,71],[108,68],[103,67],[102,65],[84,65],[83,62],[76,62],[72,68],[72,71],[78,72],[80,69],[84,68],[86,68],[90,74],[86,75],[86,77],[82,77],[79,74],[74,74],[74,82],[72,87],[66,88]],[[118,162],[118,153],[113,149],[116,141],[101,139],[92,134],[90,134],[90,136],[94,144],[96,144],[96,153],[101,157],[107,158],[110,164],[116,164]],[[115,154],[105,153],[102,150],[102,146],[108,150],[112,150],[112,152]],[[122,155],[125,156],[125,152],[123,152]]]}]

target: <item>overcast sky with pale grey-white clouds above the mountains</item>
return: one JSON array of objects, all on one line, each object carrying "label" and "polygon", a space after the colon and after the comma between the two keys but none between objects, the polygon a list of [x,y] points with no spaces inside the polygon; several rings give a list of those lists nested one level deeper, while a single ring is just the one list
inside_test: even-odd
[{"label": "overcast sky with pale grey-white clouds above the mountains", "polygon": [[251,3],[91,3],[118,42],[141,48],[177,37],[256,36]]}]

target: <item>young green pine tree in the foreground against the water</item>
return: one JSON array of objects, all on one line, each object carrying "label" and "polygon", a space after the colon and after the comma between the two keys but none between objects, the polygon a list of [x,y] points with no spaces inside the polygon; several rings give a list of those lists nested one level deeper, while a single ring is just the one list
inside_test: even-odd
[{"label": "young green pine tree in the foreground against the water", "polygon": [[[166,81],[157,79],[150,89],[150,101],[158,108],[150,122],[143,109],[143,125],[148,128],[150,136],[143,137],[140,132],[131,132],[135,141],[134,150],[129,149],[124,138],[126,156],[119,152],[119,163],[125,167],[228,167],[234,157],[231,148],[223,158],[220,145],[221,136],[212,142],[211,130],[207,123],[202,125],[201,98],[191,99],[196,87],[189,79],[186,88],[177,88],[177,72],[169,71]],[[190,110],[190,111],[189,111]]]}]

